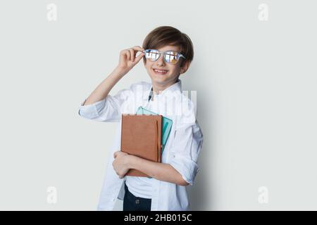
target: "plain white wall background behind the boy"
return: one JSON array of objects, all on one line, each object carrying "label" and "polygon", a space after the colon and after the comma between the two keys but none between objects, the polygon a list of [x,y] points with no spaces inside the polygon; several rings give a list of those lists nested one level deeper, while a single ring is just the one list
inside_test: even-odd
[{"label": "plain white wall background behind the boy", "polygon": [[[47,19],[56,4],[57,20]],[[259,5],[268,20],[259,20]],[[115,123],[77,115],[160,25],[189,35],[193,210],[317,210],[316,1],[1,1],[0,210],[96,210]],[[150,81],[142,62],[111,94]],[[47,202],[47,188],[57,203]],[[268,190],[268,203],[258,198]],[[121,210],[120,201],[116,210]]]}]

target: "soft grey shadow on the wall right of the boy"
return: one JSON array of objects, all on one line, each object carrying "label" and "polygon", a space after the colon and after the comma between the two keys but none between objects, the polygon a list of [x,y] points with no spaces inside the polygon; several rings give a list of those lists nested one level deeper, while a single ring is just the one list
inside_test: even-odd
[{"label": "soft grey shadow on the wall right of the boy", "polygon": [[[188,74],[186,73],[182,79],[182,90],[188,91],[188,96],[190,98],[190,91],[197,91],[197,120],[201,131],[204,135],[203,146],[199,154],[198,165],[199,172],[194,180],[193,186],[187,186],[187,192],[189,195],[190,209],[193,211],[197,210],[211,210],[213,208],[213,188],[209,186],[212,180],[212,173],[207,169],[210,168],[211,163],[211,111],[212,108],[212,98],[206,90],[208,84],[203,84],[202,82],[206,80],[199,75],[199,71],[195,68],[191,68]],[[201,79],[200,79],[201,78]],[[211,201],[211,203],[210,203]]]}]

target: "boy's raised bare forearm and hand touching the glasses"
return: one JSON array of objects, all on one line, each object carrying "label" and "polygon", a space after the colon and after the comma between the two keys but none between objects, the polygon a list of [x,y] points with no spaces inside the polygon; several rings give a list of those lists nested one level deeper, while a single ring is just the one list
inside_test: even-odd
[{"label": "boy's raised bare forearm and hand touching the glasses", "polygon": [[[141,53],[139,56],[136,56],[138,51],[141,51]],[[144,56],[142,51],[144,51],[144,49],[142,49],[141,46],[134,46],[131,49],[120,51],[118,66],[97,86],[96,89],[94,89],[94,91],[92,91],[92,94],[86,98],[82,105],[91,105],[106,98],[113,86],[115,86],[123,76],[139,63],[139,60]]]}]

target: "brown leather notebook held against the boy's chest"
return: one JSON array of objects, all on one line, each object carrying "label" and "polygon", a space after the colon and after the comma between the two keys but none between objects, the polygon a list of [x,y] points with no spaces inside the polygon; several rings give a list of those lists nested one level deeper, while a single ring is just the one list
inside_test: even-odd
[{"label": "brown leather notebook held against the boy's chest", "polygon": [[[121,150],[153,162],[161,162],[161,115],[122,115]],[[125,176],[147,176],[130,169]],[[147,176],[149,177],[149,176]]]}]

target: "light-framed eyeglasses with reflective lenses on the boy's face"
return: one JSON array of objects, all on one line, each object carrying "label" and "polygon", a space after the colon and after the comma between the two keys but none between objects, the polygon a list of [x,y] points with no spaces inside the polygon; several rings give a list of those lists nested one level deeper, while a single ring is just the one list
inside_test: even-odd
[{"label": "light-framed eyeglasses with reflective lenses on the boy's face", "polygon": [[146,49],[143,51],[144,57],[149,59],[151,62],[155,62],[161,57],[161,54],[163,54],[163,59],[166,63],[175,64],[178,63],[178,60],[180,58],[185,58],[181,53],[178,53],[177,51],[158,51],[156,49]]}]

